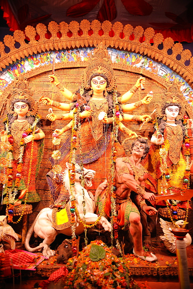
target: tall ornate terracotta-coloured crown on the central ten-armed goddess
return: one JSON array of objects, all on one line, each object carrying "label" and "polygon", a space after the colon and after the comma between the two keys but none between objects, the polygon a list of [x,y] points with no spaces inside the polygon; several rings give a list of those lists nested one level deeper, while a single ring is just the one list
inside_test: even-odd
[{"label": "tall ornate terracotta-coloured crown on the central ten-armed goddess", "polygon": [[111,91],[115,88],[115,75],[111,67],[111,56],[107,51],[107,47],[101,42],[93,50],[93,55],[89,60],[89,64],[82,75],[84,88],[90,88],[89,79],[94,73],[104,74],[109,79],[109,85],[106,90]]}]

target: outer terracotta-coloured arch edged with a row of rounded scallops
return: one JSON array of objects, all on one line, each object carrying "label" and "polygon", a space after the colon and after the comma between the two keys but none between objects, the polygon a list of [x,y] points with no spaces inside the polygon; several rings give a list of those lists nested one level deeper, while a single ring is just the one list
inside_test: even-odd
[{"label": "outer terracotta-coloured arch edged with a row of rounded scallops", "polygon": [[[29,42],[25,42],[25,35]],[[20,47],[15,48],[19,42]],[[75,47],[95,47],[103,42],[107,47],[124,49],[149,56],[152,60],[162,62],[179,74],[193,87],[193,57],[190,50],[183,50],[181,43],[175,43],[172,38],[163,38],[161,33],[155,34],[153,28],[145,31],[141,26],[133,28],[130,24],[123,27],[122,23],[112,24],[110,21],[91,23],[84,19],[81,23],[71,21],[70,24],[60,24],[51,21],[47,27],[39,23],[36,28],[28,25],[23,31],[16,30],[13,36],[6,35],[4,43],[0,42],[0,66],[6,65],[41,51],[53,49],[71,49]],[[162,48],[159,46],[162,44]],[[10,52],[5,52],[5,46]],[[172,54],[168,54],[171,49]],[[178,56],[178,58],[177,58]],[[180,60],[178,60],[180,58]],[[188,65],[187,65],[187,62]]]}]

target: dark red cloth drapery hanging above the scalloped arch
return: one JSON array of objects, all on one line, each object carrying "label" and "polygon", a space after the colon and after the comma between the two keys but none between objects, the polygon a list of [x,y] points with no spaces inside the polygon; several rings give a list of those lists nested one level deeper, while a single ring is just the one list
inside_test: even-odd
[{"label": "dark red cloth drapery hanging above the scalloped arch", "polygon": [[[174,0],[171,0],[173,3]],[[38,0],[0,0],[3,18],[7,21],[10,31],[25,29],[27,25],[36,25],[43,21],[66,21],[76,19],[79,23],[83,19],[92,22],[98,19],[119,21],[123,25],[133,27],[152,27],[155,33],[161,33],[165,38],[171,37],[174,41],[193,41],[193,24],[190,17],[190,0],[177,2],[175,5],[166,5],[166,1],[151,0],[47,0],[42,5]],[[52,14],[49,14],[52,13]],[[52,17],[52,18],[50,18]],[[45,20],[47,21],[45,22]],[[191,22],[191,23],[190,23]]]}]

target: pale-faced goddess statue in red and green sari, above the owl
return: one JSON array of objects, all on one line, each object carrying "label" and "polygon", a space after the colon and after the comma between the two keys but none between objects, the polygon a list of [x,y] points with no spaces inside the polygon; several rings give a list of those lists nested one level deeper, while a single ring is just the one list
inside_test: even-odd
[{"label": "pale-faced goddess statue in red and green sari, above the owl", "polygon": [[[38,202],[40,197],[35,188],[35,177],[41,164],[43,141],[40,116],[36,113],[37,103],[31,97],[32,92],[23,88],[25,81],[16,83],[10,102],[10,111],[1,131],[0,163],[5,164],[1,173],[3,184],[3,203],[15,206],[21,202]],[[30,176],[30,180],[29,180]],[[27,197],[25,197],[27,191]],[[2,197],[3,197],[2,196]]]}]

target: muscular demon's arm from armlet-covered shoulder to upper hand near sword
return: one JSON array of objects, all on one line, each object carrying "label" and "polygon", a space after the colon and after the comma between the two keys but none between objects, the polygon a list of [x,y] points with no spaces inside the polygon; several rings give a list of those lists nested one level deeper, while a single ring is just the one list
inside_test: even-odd
[{"label": "muscular demon's arm from armlet-covered shoulder to upper hand near sword", "polygon": [[133,176],[133,170],[131,169],[129,164],[126,164],[125,162],[122,161],[122,158],[116,159],[116,171],[118,183],[124,184],[127,188],[136,192],[138,195],[140,195],[141,197],[143,197],[148,201],[155,200],[155,195],[153,193],[145,192],[144,190],[146,177],[144,176],[144,179],[141,182],[135,181]]}]

